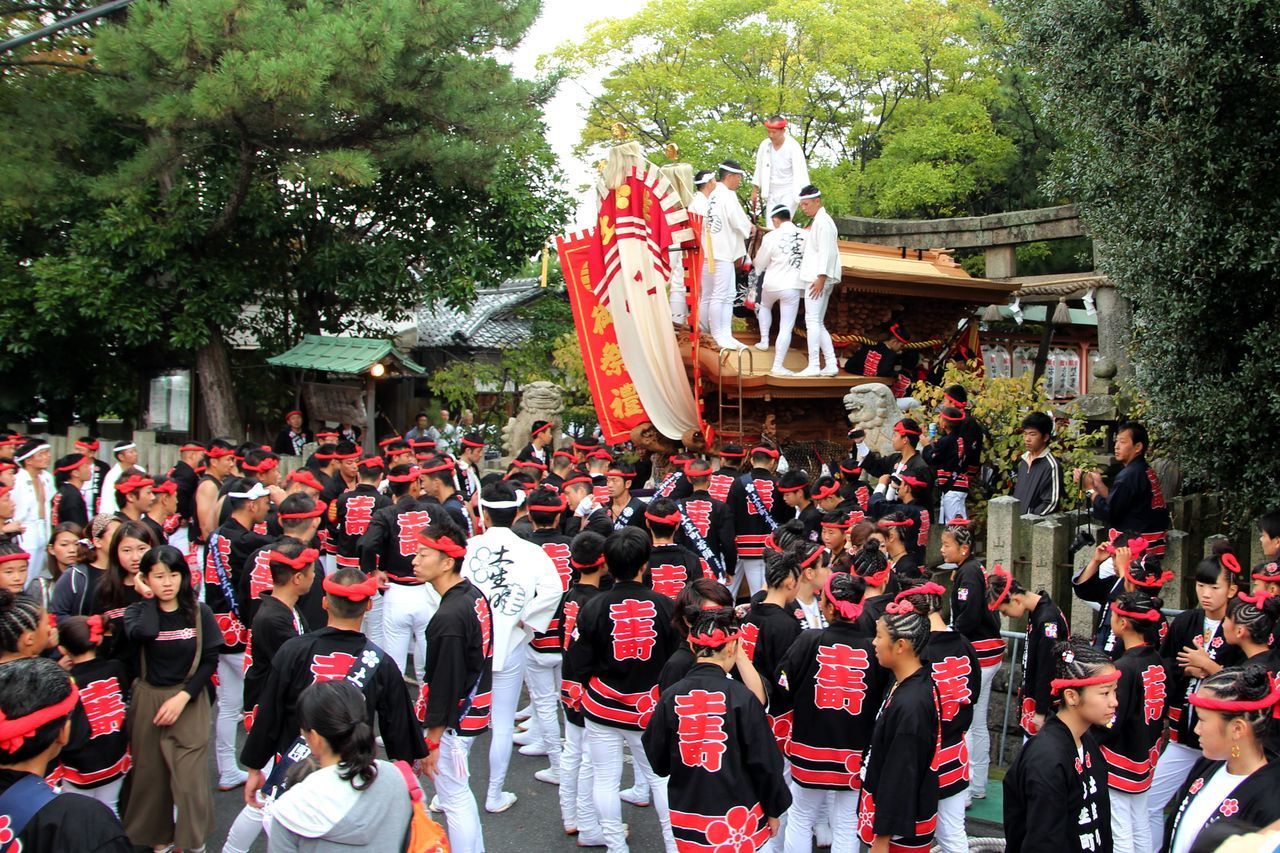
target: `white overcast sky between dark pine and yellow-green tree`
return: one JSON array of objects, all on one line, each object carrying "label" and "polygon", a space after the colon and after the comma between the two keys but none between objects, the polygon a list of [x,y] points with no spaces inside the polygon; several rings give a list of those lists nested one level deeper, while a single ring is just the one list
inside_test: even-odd
[{"label": "white overcast sky between dark pine and yellow-green tree", "polygon": [[[538,58],[549,54],[562,42],[575,40],[586,24],[600,18],[625,18],[635,14],[645,0],[543,0],[543,12],[520,49],[511,55],[520,77],[534,77]],[[567,79],[561,83],[556,97],[547,105],[547,141],[559,158],[568,188],[579,201],[577,220],[571,231],[590,224],[595,214],[594,192],[579,193],[577,187],[593,179],[594,167],[573,156],[572,149],[586,123],[586,110],[591,96],[599,91],[603,73],[590,78]]]}]

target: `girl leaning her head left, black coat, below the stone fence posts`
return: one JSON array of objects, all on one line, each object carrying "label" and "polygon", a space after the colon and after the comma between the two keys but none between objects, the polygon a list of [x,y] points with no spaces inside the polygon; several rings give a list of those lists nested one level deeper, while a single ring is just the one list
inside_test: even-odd
[{"label": "girl leaning her head left, black coat, below the stone fence posts", "polygon": [[1070,631],[1062,610],[1048,593],[1028,592],[1002,566],[987,578],[987,608],[1007,619],[1027,617],[1027,642],[1023,644],[1023,683],[1018,688],[1021,717],[1019,725],[1032,736],[1044,725],[1053,678],[1053,644]]}]

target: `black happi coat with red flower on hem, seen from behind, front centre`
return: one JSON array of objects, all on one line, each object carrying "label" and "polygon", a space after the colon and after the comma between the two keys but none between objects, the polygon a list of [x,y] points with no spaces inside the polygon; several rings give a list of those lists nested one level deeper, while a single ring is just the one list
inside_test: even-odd
[{"label": "black happi coat with red flower on hem, seen from behind, front centre", "polygon": [[717,663],[695,663],[662,694],[644,733],[653,771],[669,776],[671,827],[677,844],[756,849],[769,839],[769,817],[791,806],[782,754],[764,708]]}]

